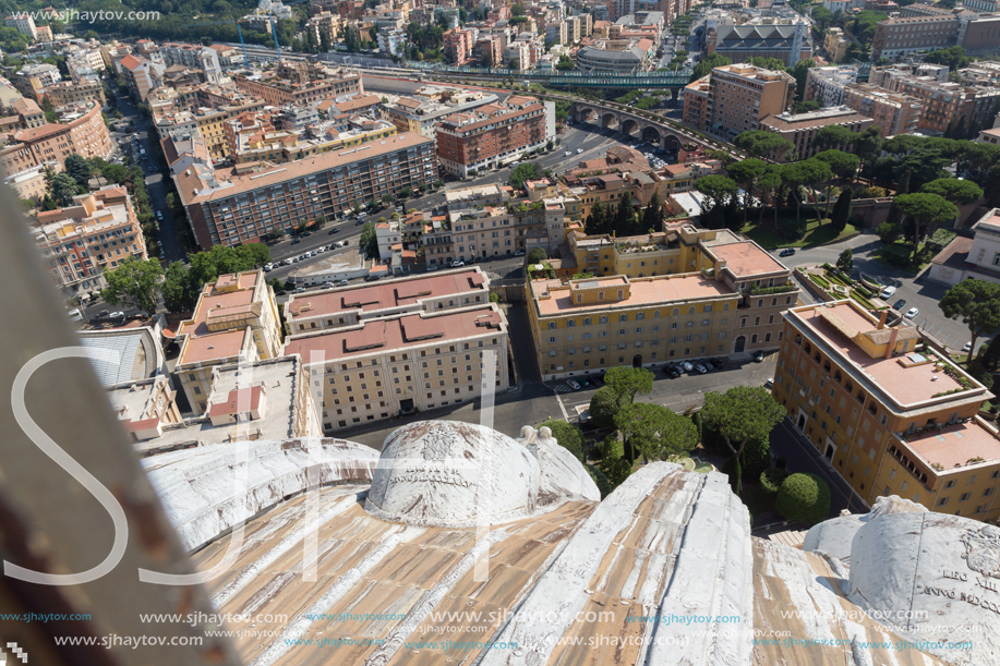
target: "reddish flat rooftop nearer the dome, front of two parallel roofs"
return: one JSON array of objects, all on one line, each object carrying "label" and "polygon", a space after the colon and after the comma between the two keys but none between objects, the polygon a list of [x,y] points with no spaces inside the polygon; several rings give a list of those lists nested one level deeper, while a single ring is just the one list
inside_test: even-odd
[{"label": "reddish flat rooftop nearer the dome, front of two parallel roofs", "polygon": [[397,349],[499,334],[505,325],[504,315],[492,306],[426,317],[413,314],[365,322],[348,330],[292,337],[285,344],[285,355],[299,354],[303,359],[312,359],[312,353],[318,352],[326,360],[336,360],[387,353]]}]

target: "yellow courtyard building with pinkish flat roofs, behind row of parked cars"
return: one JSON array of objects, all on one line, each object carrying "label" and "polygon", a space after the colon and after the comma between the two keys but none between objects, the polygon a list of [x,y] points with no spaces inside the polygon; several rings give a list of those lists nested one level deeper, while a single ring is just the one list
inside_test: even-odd
[{"label": "yellow courtyard building with pinkish flat roofs, behind row of parked cars", "polygon": [[528,284],[546,380],[775,349],[781,313],[797,302],[791,271],[725,230],[685,225],[623,239],[571,233],[569,243],[577,273],[592,277]]}]

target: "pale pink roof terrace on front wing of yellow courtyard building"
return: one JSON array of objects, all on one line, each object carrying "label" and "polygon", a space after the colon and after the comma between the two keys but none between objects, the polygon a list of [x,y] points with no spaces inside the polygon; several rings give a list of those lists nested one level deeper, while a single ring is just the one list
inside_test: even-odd
[{"label": "pale pink roof terrace on front wing of yellow courtyard building", "polygon": [[[534,280],[531,282],[539,314],[542,316],[574,312],[624,310],[660,303],[666,307],[679,301],[735,296],[733,290],[726,287],[725,282],[707,278],[700,273],[639,278],[631,280],[629,287],[629,296],[622,301],[576,304],[570,298],[571,290],[568,286],[564,286],[561,280]],[[539,300],[540,296],[547,295],[553,291],[555,292],[554,298]]]}]

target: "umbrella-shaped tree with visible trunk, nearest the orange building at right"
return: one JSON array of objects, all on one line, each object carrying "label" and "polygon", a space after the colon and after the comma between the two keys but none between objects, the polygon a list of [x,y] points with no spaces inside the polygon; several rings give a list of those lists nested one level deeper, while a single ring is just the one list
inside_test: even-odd
[{"label": "umbrella-shaped tree with visible trunk, nearest the orange building at right", "polygon": [[[742,476],[739,459],[751,439],[766,439],[784,419],[785,410],[760,386],[735,386],[724,393],[709,391],[701,408],[701,422],[719,433],[733,453],[736,477]],[[737,493],[742,484],[737,485]]]}]

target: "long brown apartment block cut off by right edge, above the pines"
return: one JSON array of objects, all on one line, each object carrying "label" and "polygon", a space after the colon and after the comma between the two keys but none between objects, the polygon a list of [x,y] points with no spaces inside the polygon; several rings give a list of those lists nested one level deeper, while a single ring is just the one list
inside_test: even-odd
[{"label": "long brown apartment block cut off by right edge, above the pines", "polygon": [[930,76],[894,77],[887,82],[885,87],[920,100],[917,129],[928,132],[943,133],[962,117],[969,126],[989,126],[992,111],[1000,102],[1000,89],[996,87],[965,86]]}]

